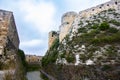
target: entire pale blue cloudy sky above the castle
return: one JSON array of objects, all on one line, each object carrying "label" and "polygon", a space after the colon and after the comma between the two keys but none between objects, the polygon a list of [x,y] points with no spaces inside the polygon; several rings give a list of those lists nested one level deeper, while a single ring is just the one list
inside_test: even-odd
[{"label": "entire pale blue cloudy sky above the castle", "polygon": [[0,0],[0,9],[12,11],[25,54],[45,55],[48,33],[58,31],[61,17],[110,0]]}]

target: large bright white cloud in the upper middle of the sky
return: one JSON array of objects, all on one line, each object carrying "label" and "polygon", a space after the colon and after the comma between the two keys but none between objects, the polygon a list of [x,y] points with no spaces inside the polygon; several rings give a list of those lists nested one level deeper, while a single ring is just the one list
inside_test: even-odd
[{"label": "large bright white cloud in the upper middle of the sky", "polygon": [[48,33],[53,29],[55,6],[51,2],[20,1],[20,10],[24,12],[24,20],[33,25],[40,33]]}]

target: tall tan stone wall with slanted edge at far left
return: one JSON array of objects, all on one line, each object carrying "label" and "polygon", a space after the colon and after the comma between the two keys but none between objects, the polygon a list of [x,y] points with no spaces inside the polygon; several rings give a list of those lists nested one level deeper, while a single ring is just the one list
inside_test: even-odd
[{"label": "tall tan stone wall with slanted edge at far left", "polygon": [[19,38],[13,17],[13,13],[0,10],[0,62],[9,65],[15,62]]}]

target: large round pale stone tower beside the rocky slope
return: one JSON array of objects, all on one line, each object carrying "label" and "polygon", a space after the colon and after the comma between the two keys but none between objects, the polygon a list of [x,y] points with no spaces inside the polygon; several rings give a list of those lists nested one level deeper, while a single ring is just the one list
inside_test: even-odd
[{"label": "large round pale stone tower beside the rocky slope", "polygon": [[77,16],[76,12],[67,12],[62,16],[61,26],[60,26],[60,34],[59,34],[60,42],[70,32],[70,30],[72,28],[71,25],[76,16]]}]

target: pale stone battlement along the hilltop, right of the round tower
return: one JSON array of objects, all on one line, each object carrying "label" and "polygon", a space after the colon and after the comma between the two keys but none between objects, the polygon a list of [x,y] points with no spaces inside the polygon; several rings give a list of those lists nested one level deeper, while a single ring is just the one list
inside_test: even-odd
[{"label": "pale stone battlement along the hilltop, right of the round tower", "polygon": [[79,12],[79,17],[83,17],[83,18],[88,18],[94,14],[98,14],[103,10],[108,10],[108,9],[118,9],[120,5],[120,1],[119,0],[111,0],[109,2],[106,2],[104,4],[100,4],[97,5],[95,7],[83,10]]}]

